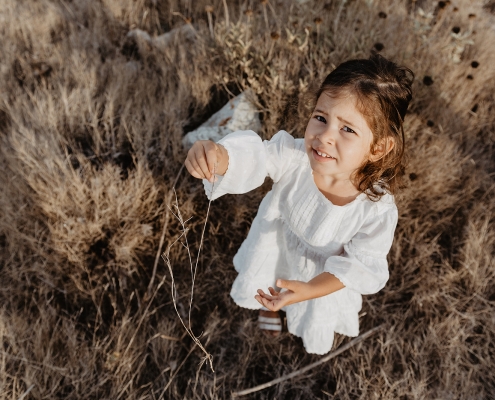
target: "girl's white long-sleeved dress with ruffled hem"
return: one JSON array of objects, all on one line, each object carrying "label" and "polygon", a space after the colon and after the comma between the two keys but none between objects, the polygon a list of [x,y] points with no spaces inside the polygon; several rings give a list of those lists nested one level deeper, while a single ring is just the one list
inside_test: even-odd
[{"label": "girl's white long-sleeved dress with ruffled hem", "polygon": [[[314,182],[304,140],[285,131],[270,141],[238,131],[219,143],[229,166],[213,187],[213,199],[246,193],[266,176],[274,182],[234,257],[234,301],[259,309],[257,289],[267,291],[277,278],[307,282],[330,272],[345,288],[286,306],[288,330],[315,354],[331,350],[334,332],[357,336],[361,295],[378,292],[388,280],[386,256],[398,218],[393,196],[373,202],[360,194],[344,206],[332,204]],[[211,184],[203,182],[211,198]]]}]

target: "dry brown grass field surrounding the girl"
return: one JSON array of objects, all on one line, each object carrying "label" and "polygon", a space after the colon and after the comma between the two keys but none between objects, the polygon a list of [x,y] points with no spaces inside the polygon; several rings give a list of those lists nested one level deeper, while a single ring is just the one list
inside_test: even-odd
[{"label": "dry brown grass field surrounding the girl", "polygon": [[[391,277],[361,314],[361,332],[384,329],[246,398],[495,398],[495,2],[227,9],[228,26],[222,0],[1,1],[0,398],[225,399],[318,360],[229,297],[269,182],[211,204],[192,329],[214,372],[153,270],[181,233],[175,180],[194,253],[206,215],[201,182],[179,174],[184,133],[250,87],[262,137],[302,136],[311,85],[373,49],[416,74]],[[191,21],[166,46],[126,37]],[[184,316],[187,252],[170,256]]]}]

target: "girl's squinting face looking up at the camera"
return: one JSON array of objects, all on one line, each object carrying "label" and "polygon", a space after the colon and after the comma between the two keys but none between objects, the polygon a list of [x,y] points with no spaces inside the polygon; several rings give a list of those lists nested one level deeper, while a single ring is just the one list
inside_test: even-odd
[{"label": "girl's squinting face looking up at the camera", "polygon": [[356,108],[356,96],[323,92],[306,127],[304,142],[313,175],[349,180],[370,157],[373,133]]}]

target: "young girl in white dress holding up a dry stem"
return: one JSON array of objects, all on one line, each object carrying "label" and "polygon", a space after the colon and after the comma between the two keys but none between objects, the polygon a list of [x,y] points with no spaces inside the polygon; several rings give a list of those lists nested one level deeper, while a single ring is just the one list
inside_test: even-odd
[{"label": "young girl in white dress holding up a dry stem", "polygon": [[413,78],[379,55],[347,61],[316,93],[304,139],[239,131],[188,153],[188,171],[212,199],[273,180],[234,257],[231,296],[262,308],[260,328],[275,334],[285,310],[309,353],[330,351],[334,332],[357,336],[361,295],[388,280]]}]

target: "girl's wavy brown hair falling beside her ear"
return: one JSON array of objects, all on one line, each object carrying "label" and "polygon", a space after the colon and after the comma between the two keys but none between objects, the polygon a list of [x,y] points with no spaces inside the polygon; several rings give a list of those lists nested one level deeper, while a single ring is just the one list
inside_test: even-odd
[{"label": "girl's wavy brown hair falling beside her ear", "polygon": [[359,191],[377,201],[395,194],[404,175],[404,128],[407,107],[412,99],[413,72],[379,54],[369,59],[340,64],[323,81],[316,99],[325,92],[338,97],[349,91],[357,97],[357,107],[373,132],[370,151],[378,143],[394,141],[393,149],[377,161],[366,161],[354,174]]}]

